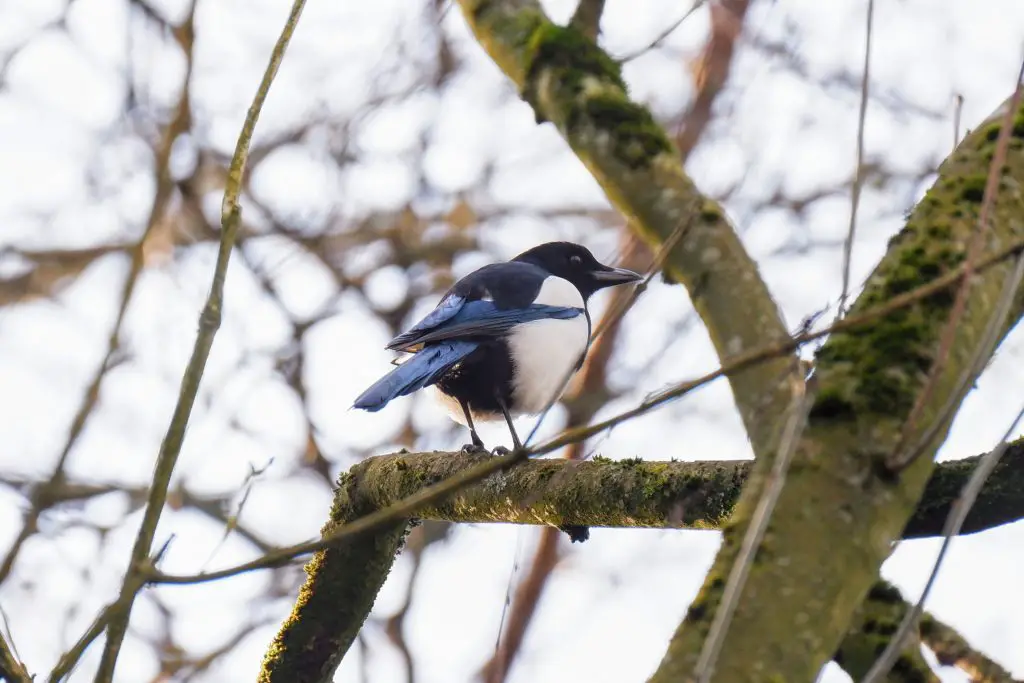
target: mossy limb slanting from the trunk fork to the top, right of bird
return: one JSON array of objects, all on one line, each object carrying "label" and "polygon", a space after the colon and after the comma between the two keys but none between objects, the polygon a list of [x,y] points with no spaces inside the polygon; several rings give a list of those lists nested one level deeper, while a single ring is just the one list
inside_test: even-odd
[{"label": "mossy limb slanting from the trunk fork to the top, right of bird", "polygon": [[[620,66],[574,26],[552,24],[536,0],[460,0],[487,54],[550,121],[630,225],[652,246],[684,234],[665,271],[681,282],[724,362],[786,339],[778,308],[722,208],[683,171],[679,150],[630,100]],[[778,357],[729,376],[757,456],[768,453],[797,373]]]}]

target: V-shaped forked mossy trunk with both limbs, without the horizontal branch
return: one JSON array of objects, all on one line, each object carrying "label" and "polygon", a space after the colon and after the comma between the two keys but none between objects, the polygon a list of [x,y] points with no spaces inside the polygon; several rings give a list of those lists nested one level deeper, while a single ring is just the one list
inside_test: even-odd
[{"label": "V-shaped forked mossy trunk with both limbs, without the horizontal branch", "polygon": [[[536,2],[462,0],[461,4],[480,43],[523,89],[539,120],[556,125],[612,203],[642,233],[656,241],[680,221],[692,221],[678,250],[680,259],[672,265],[691,295],[697,290],[694,303],[720,356],[727,357],[733,345],[749,346],[744,332],[759,338],[784,334],[753,263],[741,249],[728,248],[735,234],[727,226],[723,229],[720,210],[710,208],[682,174],[649,113],[629,101],[616,66],[607,55],[572,27],[552,25]],[[893,241],[854,311],[887,301],[964,260],[964,244],[977,223],[993,154],[993,125],[998,127],[989,121],[969,136],[943,165],[940,179]],[[1012,141],[1008,158],[1011,175],[1018,179],[1024,177],[1022,136],[1024,131]],[[993,207],[988,248],[1024,231],[1013,220],[1021,210],[1020,183],[1011,185]],[[708,279],[730,268],[735,270],[729,282],[713,292]],[[956,378],[981,342],[1007,269],[1002,265],[971,284],[968,314],[948,347],[936,390],[922,403],[919,424],[938,422],[941,407],[950,398],[955,402],[962,398],[953,395],[963,393],[955,388]],[[696,273],[708,279],[693,280]],[[736,302],[753,303],[742,311],[730,309]],[[778,501],[769,541],[761,546],[744,589],[746,598],[724,641],[717,680],[746,681],[752,672],[764,680],[809,680],[835,651],[874,581],[890,541],[912,512],[931,471],[931,456],[944,436],[946,425],[925,457],[898,480],[879,467],[879,459],[898,445],[900,430],[922,393],[950,305],[948,295],[932,297],[870,330],[837,336],[824,347],[817,373],[820,392],[797,450],[794,476]],[[772,314],[766,315],[768,310]],[[725,330],[736,336],[723,335]],[[777,412],[787,404],[779,382],[792,372],[785,362],[780,358],[771,367],[731,378],[759,454],[778,422]],[[769,404],[771,411],[763,410]],[[828,461],[822,460],[823,454],[828,454]],[[763,459],[755,468],[734,523],[725,529],[722,552],[705,590],[651,679],[655,683],[693,673],[724,578],[764,489],[770,460]],[[850,543],[836,548],[829,540],[837,537]],[[780,624],[779,614],[790,623]]]}]

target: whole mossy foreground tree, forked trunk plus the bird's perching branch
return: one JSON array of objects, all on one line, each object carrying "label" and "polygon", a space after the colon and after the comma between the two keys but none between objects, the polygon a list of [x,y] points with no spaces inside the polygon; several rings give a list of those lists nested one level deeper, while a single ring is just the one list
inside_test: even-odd
[{"label": "whole mossy foreground tree, forked trunk plus the bird's perching branch", "polygon": [[[722,361],[786,339],[777,307],[722,209],[696,190],[673,143],[650,114],[629,100],[617,65],[574,28],[551,24],[536,0],[461,0],[461,5],[481,45],[522,89],[538,120],[556,126],[630,224],[655,246],[681,232],[666,260],[666,274],[687,287]],[[1015,219],[1024,213],[1020,182],[1024,112],[1016,114],[1009,178],[992,207],[987,249],[1006,247],[1024,236],[1024,223]],[[983,123],[943,164],[935,186],[891,242],[853,314],[962,264],[977,223],[998,128],[997,121]],[[911,437],[938,420],[943,404],[955,405],[962,399],[954,389],[956,380],[993,314],[1009,270],[1002,262],[972,280],[967,312],[940,382],[924,402]],[[1015,316],[1021,298],[1018,292]],[[948,421],[924,456],[898,476],[882,466],[900,442],[911,407],[922,394],[952,300],[951,292],[939,292],[871,327],[834,335],[819,353],[818,389],[809,425],[724,640],[716,681],[813,680],[847,634],[891,542],[904,527],[912,530],[915,523],[919,530],[924,527],[924,522],[910,518],[926,484],[931,479],[937,482],[932,485],[953,485],[953,467],[940,466],[939,474],[931,476],[932,458]],[[588,525],[616,521],[641,525],[647,520],[649,525],[711,527],[722,524],[732,509],[715,565],[651,679],[684,680],[693,674],[725,577],[766,485],[780,418],[791,404],[793,387],[801,381],[792,356],[728,377],[758,457],[753,465],[529,463],[467,487],[421,514],[434,510],[438,517],[467,519],[472,515],[542,523],[571,519]],[[411,467],[410,456],[360,464],[344,481],[342,501],[329,526],[352,519],[359,511],[379,509],[382,503],[443,478],[446,467],[459,466],[450,455],[433,457],[430,467],[422,470]],[[552,469],[559,467],[579,469],[562,477]],[[374,468],[382,468],[387,476],[368,475]],[[703,478],[692,476],[687,468],[706,468]],[[738,475],[741,469],[745,478]],[[616,470],[617,477],[608,476]],[[387,481],[385,488],[364,487],[377,477]],[[717,481],[718,488],[702,488],[706,479]],[[602,507],[611,498],[605,487],[615,485],[620,487],[614,500],[622,507]],[[668,496],[664,487],[669,488]],[[731,492],[728,503],[711,496],[724,489]],[[944,503],[926,501],[922,509],[935,519],[948,500],[947,496]],[[487,501],[493,507],[486,507]],[[655,520],[662,523],[654,524]],[[261,680],[330,680],[389,570],[404,526],[397,522],[387,531],[317,554],[308,567],[309,580],[296,613],[268,654],[273,666],[264,668]],[[835,539],[843,543],[834,543]],[[309,635],[298,637],[300,630]],[[289,660],[301,667],[288,666]]]}]

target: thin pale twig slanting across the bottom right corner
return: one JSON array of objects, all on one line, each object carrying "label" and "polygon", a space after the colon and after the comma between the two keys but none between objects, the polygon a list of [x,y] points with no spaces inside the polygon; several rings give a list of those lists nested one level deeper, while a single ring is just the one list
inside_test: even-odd
[{"label": "thin pale twig slanting across the bottom right corner", "polygon": [[[1024,259],[1021,259],[1020,263],[1024,264]],[[981,459],[978,467],[971,473],[971,478],[968,479],[967,484],[964,486],[964,490],[961,493],[959,498],[956,503],[953,504],[953,509],[949,511],[949,516],[946,518],[946,527],[943,529],[942,547],[939,549],[939,555],[935,558],[935,564],[932,566],[932,572],[928,577],[928,583],[925,584],[925,590],[921,593],[921,598],[913,605],[911,609],[908,609],[906,614],[903,615],[903,620],[900,622],[899,628],[896,633],[889,640],[889,644],[886,646],[885,651],[882,655],[874,661],[870,670],[868,670],[867,675],[864,676],[863,683],[878,683],[881,681],[892,669],[896,659],[899,657],[899,653],[903,648],[903,644],[906,642],[907,637],[910,635],[910,631],[918,624],[918,618],[925,609],[925,601],[928,599],[929,593],[932,591],[932,587],[935,585],[935,580],[939,575],[939,569],[942,566],[942,560],[945,559],[946,551],[949,549],[952,543],[953,537],[955,537],[961,527],[964,525],[964,520],[967,519],[967,515],[971,512],[972,506],[974,506],[975,501],[978,499],[978,494],[981,492],[982,486],[985,485],[985,480],[995,469],[995,466],[999,464],[999,458],[1002,454],[1007,452],[1010,447],[1010,438],[1013,436],[1014,431],[1017,429],[1017,425],[1024,419],[1024,407],[1020,409],[1017,413],[1017,417],[1014,418],[1013,423],[1010,428],[1007,429],[1006,433],[1002,435],[1002,441],[989,454]]]}]

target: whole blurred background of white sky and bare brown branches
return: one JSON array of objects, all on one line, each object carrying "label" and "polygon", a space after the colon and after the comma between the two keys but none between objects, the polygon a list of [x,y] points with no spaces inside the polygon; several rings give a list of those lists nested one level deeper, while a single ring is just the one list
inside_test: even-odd
[{"label": "whole blurred background of white sky and bare brown branches", "polygon": [[[1012,0],[994,1],[1000,20],[985,31],[948,0],[878,9],[854,295],[948,154],[954,116],[977,128],[1006,94],[1024,18]],[[623,55],[631,97],[672,132],[687,176],[728,216],[785,332],[816,329],[840,293],[865,2],[738,6],[697,2],[667,15],[632,1],[544,5],[562,26],[578,14],[583,33]],[[171,540],[162,571],[216,571],[310,538],[339,474],[369,456],[457,447],[459,430],[425,398],[346,412],[387,368],[386,340],[455,279],[553,239],[649,263],[646,244],[551,126],[536,124],[458,10],[441,0],[307,9],[242,176],[223,326],[158,530]],[[98,650],[82,634],[117,597],[221,237],[231,145],[286,12],[281,0],[0,6],[0,605],[29,673],[75,650],[69,679],[95,674]],[[726,61],[708,57],[724,48],[721,71]],[[688,152],[697,111],[706,128]],[[663,274],[597,342],[542,439],[719,367],[694,309],[700,288],[690,301],[678,274]],[[620,304],[597,297],[595,324]],[[989,427],[1024,382],[1019,355],[1016,337],[1000,347],[946,453],[990,447]],[[556,455],[755,451],[716,383]],[[956,467],[936,469],[928,500],[955,497],[969,471]],[[974,530],[1014,518],[1015,490],[997,484],[1015,473],[986,489]],[[904,536],[931,535],[944,513],[920,507]],[[1018,677],[1024,607],[1007,567],[1019,564],[1021,527],[958,539],[929,606]],[[514,529],[415,526],[336,680],[472,679],[494,655],[511,557],[535,551],[538,562],[516,574],[525,597],[509,607],[517,654],[507,679],[641,680],[717,543],[597,526],[582,546],[559,544],[553,528],[538,546]],[[914,558],[931,543],[902,542],[886,578],[914,593]],[[303,579],[290,562],[208,587],[147,588],[118,678],[253,680]],[[831,665],[822,676],[846,680]]]}]

